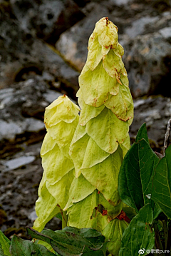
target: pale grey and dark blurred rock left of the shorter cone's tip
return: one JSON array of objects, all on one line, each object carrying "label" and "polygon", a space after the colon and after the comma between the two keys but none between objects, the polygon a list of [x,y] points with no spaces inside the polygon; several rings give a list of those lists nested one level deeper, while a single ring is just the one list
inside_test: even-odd
[{"label": "pale grey and dark blurred rock left of the shorter cone's tip", "polygon": [[62,94],[50,90],[46,82],[38,79],[30,78],[14,88],[0,90],[0,141],[14,140],[16,135],[45,129],[45,108]]}]

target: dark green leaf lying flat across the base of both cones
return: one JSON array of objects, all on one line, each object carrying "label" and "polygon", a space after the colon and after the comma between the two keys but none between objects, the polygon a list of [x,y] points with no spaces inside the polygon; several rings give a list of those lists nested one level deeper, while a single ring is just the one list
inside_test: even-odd
[{"label": "dark green leaf lying flat across the base of both cones", "polygon": [[[53,250],[63,256],[72,255],[90,255],[94,251],[100,250],[104,243],[105,237],[100,232],[92,229],[78,230],[76,227],[66,227],[63,230],[43,230],[39,233],[36,230],[28,228],[28,235],[38,240],[48,242],[53,247]],[[99,255],[105,255],[105,247],[99,251]],[[103,254],[102,254],[103,252]]]}]

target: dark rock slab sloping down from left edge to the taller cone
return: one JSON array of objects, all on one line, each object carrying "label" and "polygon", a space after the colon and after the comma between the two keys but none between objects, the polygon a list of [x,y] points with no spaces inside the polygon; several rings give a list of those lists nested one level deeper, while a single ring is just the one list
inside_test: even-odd
[{"label": "dark rock slab sloping down from left edge to the taller cone", "polygon": [[79,73],[68,66],[52,46],[21,29],[9,13],[0,9],[0,14],[0,88],[48,74],[48,82],[50,77],[51,83],[62,81],[66,86],[73,86],[76,93]]}]

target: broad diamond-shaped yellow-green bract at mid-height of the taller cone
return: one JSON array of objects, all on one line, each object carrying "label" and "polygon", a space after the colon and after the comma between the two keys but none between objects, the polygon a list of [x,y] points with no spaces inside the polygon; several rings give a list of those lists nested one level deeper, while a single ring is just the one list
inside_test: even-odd
[{"label": "broad diamond-shaped yellow-green bract at mid-height of the taller cone", "polygon": [[[99,128],[100,133],[97,135]],[[118,143],[123,143],[127,138],[128,130],[128,121],[121,121],[108,108],[104,108],[100,115],[86,124],[88,135],[95,140],[102,150],[110,154],[117,150]]]}]

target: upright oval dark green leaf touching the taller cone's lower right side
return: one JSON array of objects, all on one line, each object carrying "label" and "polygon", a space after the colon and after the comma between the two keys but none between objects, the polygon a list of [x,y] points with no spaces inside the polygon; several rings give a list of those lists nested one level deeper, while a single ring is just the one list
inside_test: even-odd
[{"label": "upright oval dark green leaf touching the taller cone's lower right side", "polygon": [[137,212],[150,199],[151,177],[159,159],[146,140],[134,143],[123,160],[119,174],[118,190],[123,203]]}]

